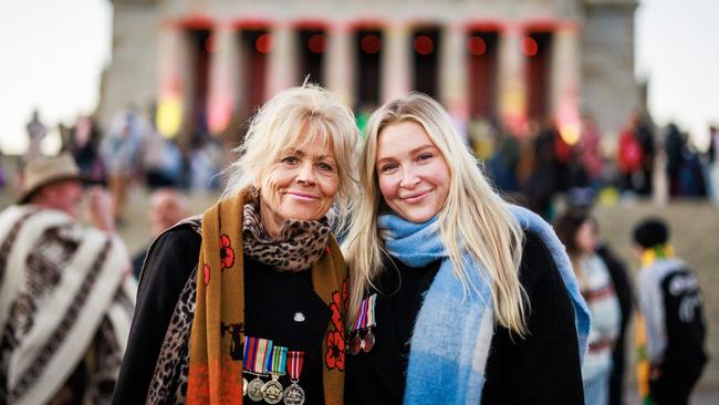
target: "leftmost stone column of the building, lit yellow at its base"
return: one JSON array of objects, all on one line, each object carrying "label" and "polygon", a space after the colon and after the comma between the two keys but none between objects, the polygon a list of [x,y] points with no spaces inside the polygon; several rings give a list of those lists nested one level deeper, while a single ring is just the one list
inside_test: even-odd
[{"label": "leftmost stone column of the building, lit yellow at its base", "polygon": [[158,35],[157,129],[175,137],[187,122],[191,94],[187,39],[181,28],[167,23]]}]

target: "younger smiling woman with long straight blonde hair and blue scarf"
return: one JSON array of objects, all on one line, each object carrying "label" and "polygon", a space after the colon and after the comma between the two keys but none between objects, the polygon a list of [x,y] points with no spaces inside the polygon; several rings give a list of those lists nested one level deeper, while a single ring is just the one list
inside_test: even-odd
[{"label": "younger smiling woman with long straight blonde hair and blue scarf", "polygon": [[493,190],[442,106],[383,105],[359,166],[345,403],[582,404],[590,316],[564,248]]}]

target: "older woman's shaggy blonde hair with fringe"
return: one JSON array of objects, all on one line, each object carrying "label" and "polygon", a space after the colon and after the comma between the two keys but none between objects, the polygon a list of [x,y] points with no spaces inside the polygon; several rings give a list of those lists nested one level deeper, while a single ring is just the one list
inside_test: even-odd
[{"label": "older woman's shaggy blonde hair with fringe", "polygon": [[320,142],[332,145],[337,164],[340,184],[327,215],[342,230],[357,188],[357,138],[354,114],[332,93],[314,84],[283,90],[258,111],[244,141],[232,150],[239,158],[223,172],[227,185],[220,200],[250,186],[260,188],[288,147]]}]

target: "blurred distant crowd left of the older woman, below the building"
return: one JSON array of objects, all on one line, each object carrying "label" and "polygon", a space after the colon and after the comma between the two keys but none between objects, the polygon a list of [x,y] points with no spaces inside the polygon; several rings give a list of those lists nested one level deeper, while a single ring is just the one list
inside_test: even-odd
[{"label": "blurred distant crowd left of the older woman, below the building", "polygon": [[[20,174],[24,166],[43,155],[41,144],[48,129],[37,112],[27,132],[29,147],[18,160]],[[94,117],[81,116],[73,125],[60,125],[59,133],[60,153],[74,158],[83,177],[107,187],[113,215],[121,226],[133,187],[215,191],[219,188],[216,175],[227,166],[222,145],[209,133],[195,134],[187,143],[180,143],[160,135],[153,121],[134,108],[117,112],[106,129]],[[0,185],[11,180],[3,174],[0,166]],[[18,179],[18,184],[22,181]]]}]

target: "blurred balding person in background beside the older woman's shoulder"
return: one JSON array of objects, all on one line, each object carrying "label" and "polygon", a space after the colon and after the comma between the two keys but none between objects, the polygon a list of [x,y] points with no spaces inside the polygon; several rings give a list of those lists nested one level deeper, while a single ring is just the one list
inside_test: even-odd
[{"label": "blurred balding person in background beside the older woman's shoulder", "polygon": [[[177,189],[164,187],[155,190],[149,197],[149,220],[150,238],[157,238],[163,231],[179,222],[189,215],[189,201],[187,197]],[[139,279],[143,262],[149,246],[144,247],[133,258],[133,273]]]}]

